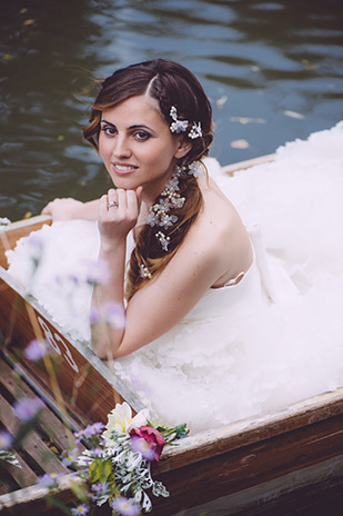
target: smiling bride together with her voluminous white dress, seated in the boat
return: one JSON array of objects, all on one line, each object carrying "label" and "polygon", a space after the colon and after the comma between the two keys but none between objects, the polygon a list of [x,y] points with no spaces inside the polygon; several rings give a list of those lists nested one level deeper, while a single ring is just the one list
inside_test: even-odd
[{"label": "smiling bride together with her voluminous white dress, seated in the boat", "polygon": [[210,102],[189,70],[159,59],[102,82],[83,136],[114,188],[47,205],[57,224],[41,230],[51,249],[36,291],[53,312],[47,278],[94,254],[107,279],[85,295],[91,316],[62,304],[62,326],[87,319],[94,353],[192,431],[343,385],[342,123],[214,181]]}]

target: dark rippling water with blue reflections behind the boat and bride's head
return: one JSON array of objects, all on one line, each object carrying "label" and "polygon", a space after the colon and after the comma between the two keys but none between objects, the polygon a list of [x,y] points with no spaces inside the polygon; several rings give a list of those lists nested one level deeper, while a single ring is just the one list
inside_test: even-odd
[{"label": "dark rippling water with blue reflections behind the boat and bride's head", "polygon": [[109,188],[81,127],[93,78],[132,62],[163,57],[198,76],[213,106],[211,155],[223,165],[343,119],[341,0],[0,0],[0,217]]}]

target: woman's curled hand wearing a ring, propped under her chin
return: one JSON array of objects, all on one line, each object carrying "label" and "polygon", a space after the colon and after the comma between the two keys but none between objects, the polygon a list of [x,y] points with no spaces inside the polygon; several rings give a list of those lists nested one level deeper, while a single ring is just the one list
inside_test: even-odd
[{"label": "woman's curled hand wearing a ring, propped under her chin", "polygon": [[[141,209],[141,194],[142,187],[135,190],[111,188],[107,196],[101,197],[99,230],[102,244],[111,246],[125,240],[137,224]],[[115,205],[111,206],[112,202]]]}]

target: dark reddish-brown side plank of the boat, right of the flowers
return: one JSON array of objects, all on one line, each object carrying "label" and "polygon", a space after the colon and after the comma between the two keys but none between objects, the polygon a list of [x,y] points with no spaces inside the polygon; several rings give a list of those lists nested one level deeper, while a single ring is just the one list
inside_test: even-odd
[{"label": "dark reddish-brown side plank of the boat, right of the flowers", "polygon": [[342,452],[342,443],[343,417],[339,415],[157,474],[171,496],[164,500],[157,499],[152,514],[173,515],[289,473],[301,472],[335,457]]}]

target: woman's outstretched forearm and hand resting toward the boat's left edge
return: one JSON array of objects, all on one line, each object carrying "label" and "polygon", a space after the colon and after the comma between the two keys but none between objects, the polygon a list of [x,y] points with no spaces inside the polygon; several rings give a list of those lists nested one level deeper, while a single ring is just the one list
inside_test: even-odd
[{"label": "woman's outstretched forearm and hand resting toward the boat's left edge", "polygon": [[98,220],[99,202],[99,199],[81,202],[71,197],[54,199],[42,209],[42,215],[51,215],[54,221],[71,219]]}]

